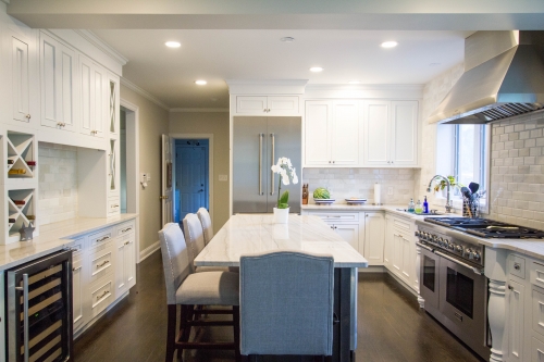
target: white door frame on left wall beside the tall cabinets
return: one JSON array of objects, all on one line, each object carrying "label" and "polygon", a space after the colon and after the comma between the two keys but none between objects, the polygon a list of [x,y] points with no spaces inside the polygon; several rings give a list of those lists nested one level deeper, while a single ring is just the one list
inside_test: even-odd
[{"label": "white door frame on left wall beside the tall cabinets", "polygon": [[143,260],[139,250],[139,107],[121,98],[126,112],[126,212],[136,216],[136,263]]}]

